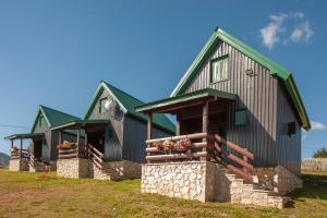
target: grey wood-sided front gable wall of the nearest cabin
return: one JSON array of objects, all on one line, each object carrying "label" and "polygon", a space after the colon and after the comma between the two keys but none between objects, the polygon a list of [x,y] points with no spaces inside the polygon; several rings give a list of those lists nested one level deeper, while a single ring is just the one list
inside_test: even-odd
[{"label": "grey wood-sided front gable wall of the nearest cabin", "polygon": [[[210,61],[225,55],[228,57],[228,80],[210,83]],[[254,76],[246,75],[245,71],[252,70]],[[289,160],[293,154],[289,149],[281,148],[288,140],[280,135],[277,122],[283,118],[282,107],[287,101],[277,104],[279,81],[270,75],[263,65],[251,60],[235,48],[226,43],[218,44],[207,62],[203,64],[197,75],[186,88],[185,93],[203,89],[206,87],[237,94],[239,98],[228,104],[227,140],[254,153],[255,166],[275,166],[280,164],[289,170],[296,172],[298,167],[290,161],[299,161],[296,158]],[[247,124],[234,125],[234,113],[238,109],[247,109]],[[279,110],[279,112],[277,112]],[[290,114],[288,114],[290,116]],[[277,118],[278,117],[278,118]],[[280,140],[283,138],[283,140]],[[296,137],[298,138],[298,137]],[[300,138],[301,141],[301,138]],[[299,140],[292,141],[294,146],[300,146]],[[296,162],[296,165],[299,164]]]}]

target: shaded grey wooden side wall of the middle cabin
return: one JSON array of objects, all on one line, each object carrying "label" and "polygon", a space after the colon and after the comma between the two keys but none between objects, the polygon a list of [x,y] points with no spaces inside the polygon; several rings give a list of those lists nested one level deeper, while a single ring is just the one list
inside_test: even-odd
[{"label": "shaded grey wooden side wall of the middle cabin", "polygon": [[[123,159],[145,162],[146,133],[145,122],[131,117],[124,118]],[[154,128],[153,134],[154,138],[170,136],[170,134],[157,128]]]}]

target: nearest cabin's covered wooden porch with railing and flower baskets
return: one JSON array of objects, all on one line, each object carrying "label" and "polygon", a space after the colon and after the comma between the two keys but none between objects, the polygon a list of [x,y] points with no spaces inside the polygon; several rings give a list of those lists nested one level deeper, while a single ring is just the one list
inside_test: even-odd
[{"label": "nearest cabin's covered wooden porch with railing and flower baskets", "polygon": [[[252,181],[254,155],[222,136],[228,123],[228,104],[234,99],[232,94],[204,89],[137,107],[137,111],[148,117],[146,162],[213,161]],[[154,113],[177,117],[175,136],[153,138]],[[170,148],[162,149],[164,144]],[[184,149],[179,148],[185,144]]]}]

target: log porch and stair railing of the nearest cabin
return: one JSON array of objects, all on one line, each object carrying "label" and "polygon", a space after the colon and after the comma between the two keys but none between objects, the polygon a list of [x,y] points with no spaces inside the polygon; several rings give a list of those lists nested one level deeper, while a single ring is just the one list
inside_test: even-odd
[{"label": "log porch and stair railing of the nearest cabin", "polygon": [[[171,154],[164,154],[164,152],[158,149],[155,145],[156,143],[165,141],[172,141],[175,143],[184,138],[189,138],[191,141],[191,146],[187,152],[184,153],[177,153],[172,149]],[[218,134],[194,133],[190,135],[147,140],[146,145],[146,161],[148,164],[162,161],[209,160],[223,165],[227,169],[250,182],[253,181],[251,174],[253,166],[250,160],[254,159],[254,155],[246,148],[242,148],[239,145],[228,142]],[[222,145],[226,145],[229,149],[223,149]]]}]

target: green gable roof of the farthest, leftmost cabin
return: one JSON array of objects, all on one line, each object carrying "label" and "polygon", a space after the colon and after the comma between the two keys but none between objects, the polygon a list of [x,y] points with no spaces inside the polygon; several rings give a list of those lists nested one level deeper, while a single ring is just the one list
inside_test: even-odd
[{"label": "green gable roof of the farthest, leftmost cabin", "polygon": [[35,118],[33,128],[32,128],[32,133],[34,133],[35,126],[37,124],[37,121],[40,117],[40,114],[44,116],[45,120],[47,121],[49,128],[60,125],[70,121],[74,120],[80,120],[80,118],[68,114],[65,112],[61,112],[59,110],[55,110],[52,108],[48,108],[46,106],[39,106],[39,109],[37,111],[37,116]]}]

